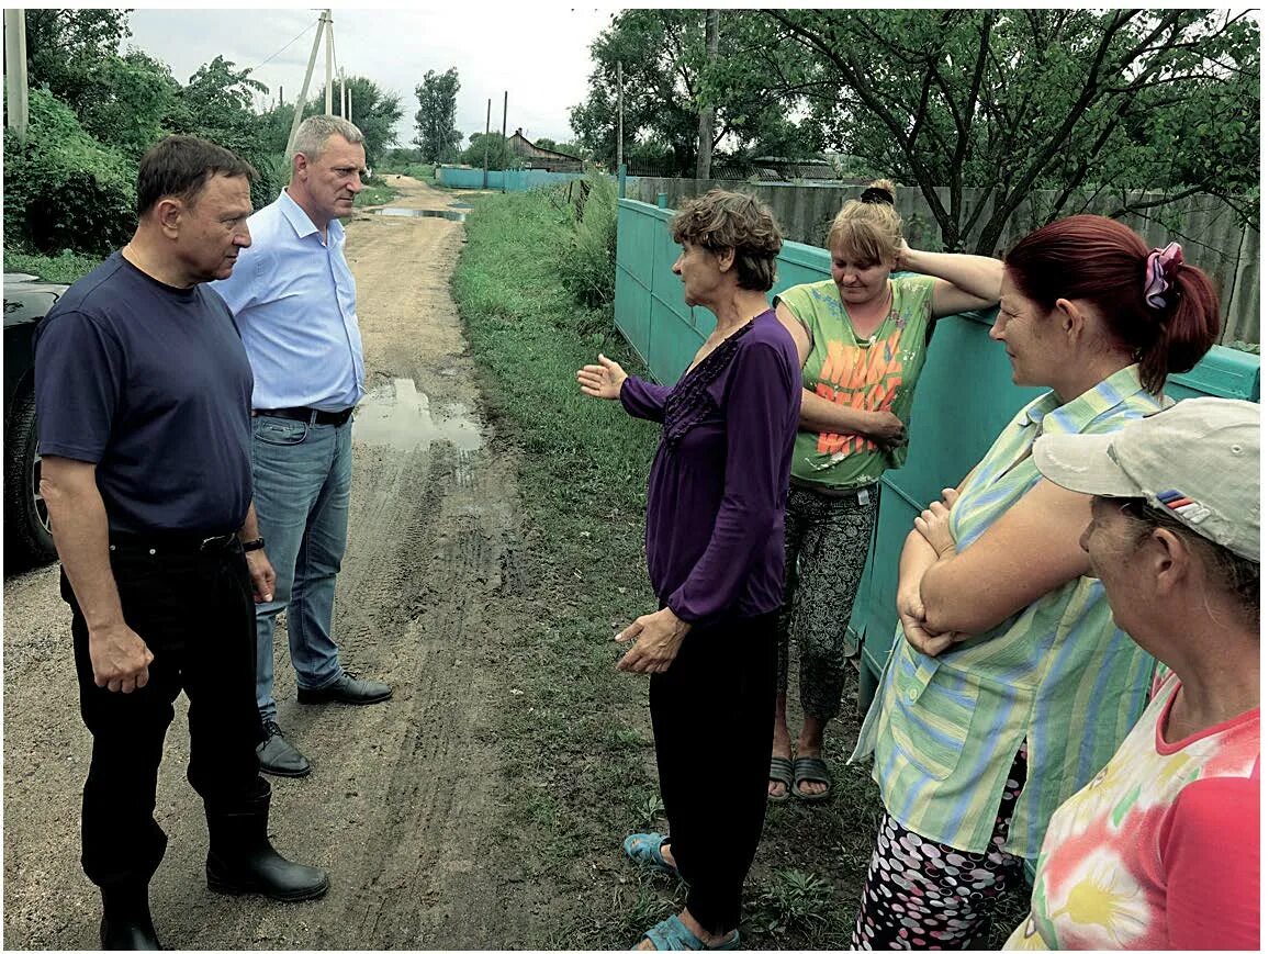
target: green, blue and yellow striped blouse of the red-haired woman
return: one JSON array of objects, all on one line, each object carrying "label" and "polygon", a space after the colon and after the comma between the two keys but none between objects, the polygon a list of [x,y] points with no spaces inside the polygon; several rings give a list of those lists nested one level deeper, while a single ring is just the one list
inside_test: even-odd
[{"label": "green, blue and yellow striped blouse of the red-haired woman", "polygon": [[[1065,405],[1052,392],[1036,398],[970,472],[949,518],[957,551],[1039,481],[1030,445],[1042,433],[1114,431],[1164,402],[1142,388],[1137,365]],[[938,657],[912,650],[898,629],[855,756],[873,752],[882,802],[904,827],[985,851],[1025,741],[1027,783],[1003,847],[1034,858],[1049,816],[1105,765],[1141,716],[1151,667],[1114,625],[1101,582],[1090,577]]]}]

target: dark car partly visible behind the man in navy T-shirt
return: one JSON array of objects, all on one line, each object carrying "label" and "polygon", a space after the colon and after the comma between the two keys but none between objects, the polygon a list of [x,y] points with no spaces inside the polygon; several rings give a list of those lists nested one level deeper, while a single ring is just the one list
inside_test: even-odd
[{"label": "dark car partly visible behind the man in navy T-shirt", "polygon": [[39,492],[34,339],[65,291],[34,275],[4,277],[4,542],[5,556],[28,566],[57,556]]}]

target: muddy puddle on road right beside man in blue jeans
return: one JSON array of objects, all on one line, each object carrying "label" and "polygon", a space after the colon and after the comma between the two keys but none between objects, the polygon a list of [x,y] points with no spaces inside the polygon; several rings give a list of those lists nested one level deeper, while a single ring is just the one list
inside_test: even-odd
[{"label": "muddy puddle on road right beside man in blue jeans", "polygon": [[433,415],[431,400],[410,378],[395,378],[362,398],[353,419],[353,439],[414,450],[435,440],[448,440],[459,450],[481,445],[480,426],[467,407],[442,405]]}]

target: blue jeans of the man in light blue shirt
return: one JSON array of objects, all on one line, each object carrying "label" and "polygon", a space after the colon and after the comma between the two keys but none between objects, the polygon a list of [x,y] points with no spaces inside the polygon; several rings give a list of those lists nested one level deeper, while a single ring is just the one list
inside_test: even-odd
[{"label": "blue jeans of the man in light blue shirt", "polygon": [[278,575],[270,603],[255,606],[255,702],[275,719],[273,631],[287,610],[296,683],[324,689],[339,679],[339,647],[330,638],[335,577],[348,543],[353,482],[353,425],[307,424],[260,415],[251,420],[255,513],[265,553]]}]

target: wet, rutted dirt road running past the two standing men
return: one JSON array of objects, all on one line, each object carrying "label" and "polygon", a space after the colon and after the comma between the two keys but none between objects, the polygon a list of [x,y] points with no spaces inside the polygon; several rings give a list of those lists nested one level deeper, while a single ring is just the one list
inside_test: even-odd
[{"label": "wet, rutted dirt road running past the two standing men", "polygon": [[[440,211],[414,180],[393,206]],[[202,806],[184,778],[183,710],[169,733],[157,818],[168,855],[151,885],[171,948],[505,948],[529,936],[536,899],[500,856],[508,798],[490,732],[522,581],[514,461],[482,421],[449,275],[459,222],[360,212],[348,255],[371,395],[354,422],[348,556],[336,638],[346,666],[395,696],[365,709],[299,707],[286,639],[279,719],[313,761],[275,779],[270,831],[331,873],[296,906],[212,894]],[[90,740],[79,718],[70,614],[57,568],[4,585],[4,943],[98,945],[98,896],[79,866]],[[519,943],[523,945],[523,940]]]}]

